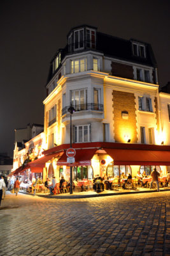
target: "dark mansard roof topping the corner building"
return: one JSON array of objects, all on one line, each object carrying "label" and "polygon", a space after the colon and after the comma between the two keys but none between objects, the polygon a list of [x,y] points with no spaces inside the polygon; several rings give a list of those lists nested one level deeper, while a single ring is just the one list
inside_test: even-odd
[{"label": "dark mansard roof topping the corner building", "polygon": [[[59,65],[59,67],[57,68],[57,70],[55,70],[55,72],[53,72],[52,70],[52,65],[53,65],[53,61],[55,60],[57,54],[60,53],[60,60],[62,62],[62,60],[65,58],[65,56],[69,55],[69,54],[76,54],[78,52],[85,52],[85,51],[95,51],[95,52],[101,52],[104,54],[104,56],[108,56],[110,58],[115,58],[118,60],[124,60],[124,61],[130,61],[132,63],[138,63],[141,65],[148,65],[150,67],[157,67],[157,63],[155,61],[155,57],[152,51],[152,47],[150,44],[146,43],[146,42],[141,42],[139,40],[136,39],[130,39],[130,40],[125,40],[123,38],[118,38],[116,36],[112,36],[112,35],[107,35],[105,33],[101,33],[97,31],[97,28],[94,26],[90,26],[87,24],[83,24],[81,26],[76,26],[74,28],[72,28],[69,33],[67,34],[67,40],[69,38],[69,36],[71,36],[73,34],[73,32],[77,29],[93,29],[96,31],[96,48],[95,49],[89,49],[87,47],[84,47],[83,49],[81,49],[81,51],[70,51],[68,44],[63,48],[63,49],[59,49],[55,55],[52,58],[52,61],[50,63],[50,70],[48,73],[48,79],[47,79],[47,83],[50,81],[50,79],[52,79],[52,77],[55,75],[56,72],[58,72],[59,68],[61,67],[61,63]],[[85,38],[86,40],[86,38]],[[134,56],[133,52],[132,52],[132,42],[136,42],[136,43],[141,43],[142,45],[145,45],[145,50],[146,50],[146,58],[142,58],[140,56]]]}]

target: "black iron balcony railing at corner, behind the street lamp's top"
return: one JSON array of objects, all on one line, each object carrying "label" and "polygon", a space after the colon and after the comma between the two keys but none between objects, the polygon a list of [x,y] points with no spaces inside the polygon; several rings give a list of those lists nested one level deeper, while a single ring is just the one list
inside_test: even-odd
[{"label": "black iron balcony railing at corner, behind the street lamp's top", "polygon": [[[94,104],[94,103],[88,103],[88,104],[80,104],[73,106],[76,111],[82,111],[82,110],[95,110],[95,111],[103,111],[103,104]],[[65,115],[68,112],[69,106],[62,109],[62,115]]]}]

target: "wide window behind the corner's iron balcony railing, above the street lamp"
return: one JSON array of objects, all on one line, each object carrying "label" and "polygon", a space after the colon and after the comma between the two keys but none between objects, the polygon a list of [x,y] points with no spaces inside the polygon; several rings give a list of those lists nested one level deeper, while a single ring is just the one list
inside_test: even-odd
[{"label": "wide window behind the corner's iron balcony railing, above the street lamp", "polygon": [[71,91],[71,104],[76,111],[86,109],[87,104],[87,90]]}]

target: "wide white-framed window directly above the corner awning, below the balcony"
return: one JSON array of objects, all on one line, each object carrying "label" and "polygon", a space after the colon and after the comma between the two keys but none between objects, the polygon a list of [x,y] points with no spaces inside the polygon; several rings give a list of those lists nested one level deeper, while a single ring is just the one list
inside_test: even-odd
[{"label": "wide white-framed window directly above the corner awning, below the balcony", "polygon": [[73,141],[89,142],[90,141],[90,124],[89,125],[74,125],[73,126]]}]

